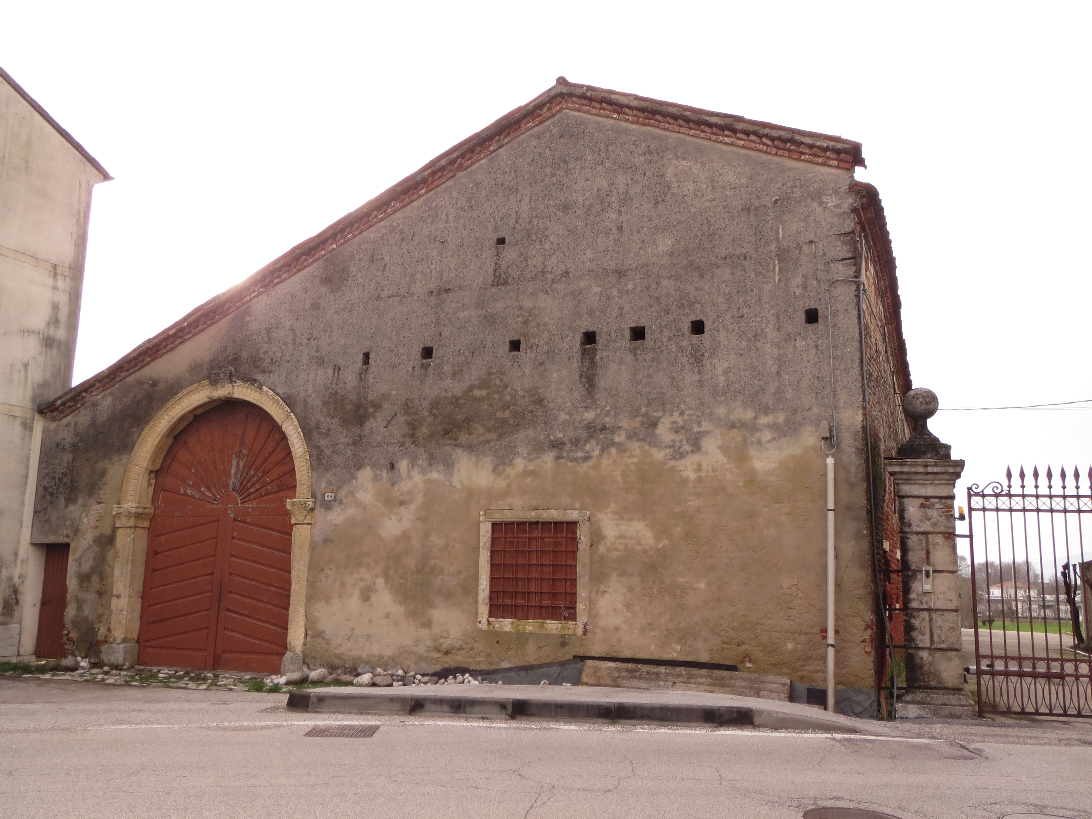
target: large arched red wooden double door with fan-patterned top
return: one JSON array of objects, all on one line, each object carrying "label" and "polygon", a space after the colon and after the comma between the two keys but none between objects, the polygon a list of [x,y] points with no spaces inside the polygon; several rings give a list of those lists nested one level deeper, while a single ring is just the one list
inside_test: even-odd
[{"label": "large arched red wooden double door with fan-patterned top", "polygon": [[295,495],[288,442],[261,407],[227,401],[178,434],[152,492],[142,664],[281,668]]}]

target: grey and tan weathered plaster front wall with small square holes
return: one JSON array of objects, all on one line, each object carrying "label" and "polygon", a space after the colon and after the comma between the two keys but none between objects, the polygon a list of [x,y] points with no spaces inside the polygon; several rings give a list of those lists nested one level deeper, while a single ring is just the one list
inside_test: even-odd
[{"label": "grey and tan weathered plaster front wall with small square holes", "polygon": [[[230,367],[284,399],[310,449],[310,662],[619,653],[819,681],[823,286],[854,271],[850,181],[574,112],[520,136],[47,426],[35,538],[73,544],[75,644],[106,638],[111,527],[96,510],[117,501],[136,437]],[[852,293],[833,320],[840,420],[859,428]],[[840,684],[867,686],[859,440],[840,464]],[[478,512],[519,507],[591,511],[585,637],[476,627]]]}]

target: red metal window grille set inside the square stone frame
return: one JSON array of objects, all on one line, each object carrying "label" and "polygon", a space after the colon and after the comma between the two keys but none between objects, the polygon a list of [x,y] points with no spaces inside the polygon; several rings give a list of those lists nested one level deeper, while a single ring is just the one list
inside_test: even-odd
[{"label": "red metal window grille set inside the square stone frame", "polygon": [[577,619],[577,522],[492,524],[489,617]]}]

